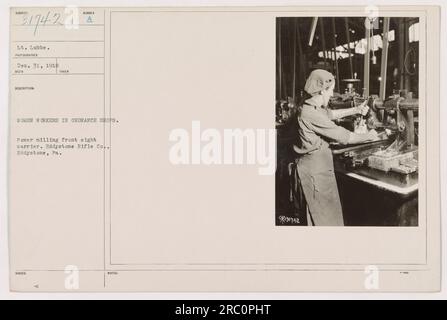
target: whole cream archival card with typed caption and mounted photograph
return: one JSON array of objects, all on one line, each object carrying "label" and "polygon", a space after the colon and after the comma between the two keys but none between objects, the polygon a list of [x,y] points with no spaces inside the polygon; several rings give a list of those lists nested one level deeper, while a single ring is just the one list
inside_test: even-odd
[{"label": "whole cream archival card with typed caption and mounted photograph", "polygon": [[11,8],[11,291],[439,290],[439,12]]}]

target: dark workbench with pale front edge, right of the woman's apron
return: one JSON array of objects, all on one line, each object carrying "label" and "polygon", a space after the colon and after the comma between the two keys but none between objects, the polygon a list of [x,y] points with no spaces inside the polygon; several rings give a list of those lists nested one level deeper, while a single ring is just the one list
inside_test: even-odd
[{"label": "dark workbench with pale front edge, right of the woman's apron", "polygon": [[418,172],[360,167],[346,169],[334,156],[334,169],[347,226],[417,226]]}]

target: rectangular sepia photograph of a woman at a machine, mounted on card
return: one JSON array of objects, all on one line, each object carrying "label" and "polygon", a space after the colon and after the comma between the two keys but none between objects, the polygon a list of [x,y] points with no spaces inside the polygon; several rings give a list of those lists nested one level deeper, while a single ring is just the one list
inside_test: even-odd
[{"label": "rectangular sepia photograph of a woman at a machine, mounted on card", "polygon": [[276,225],[418,226],[419,18],[276,19]]}]

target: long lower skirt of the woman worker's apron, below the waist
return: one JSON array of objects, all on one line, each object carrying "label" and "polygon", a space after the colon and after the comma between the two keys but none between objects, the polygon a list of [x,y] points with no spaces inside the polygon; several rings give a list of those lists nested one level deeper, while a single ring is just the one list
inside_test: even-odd
[{"label": "long lower skirt of the woman worker's apron, below the waist", "polygon": [[323,145],[319,150],[300,156],[296,163],[313,224],[343,226],[343,212],[331,150]]}]

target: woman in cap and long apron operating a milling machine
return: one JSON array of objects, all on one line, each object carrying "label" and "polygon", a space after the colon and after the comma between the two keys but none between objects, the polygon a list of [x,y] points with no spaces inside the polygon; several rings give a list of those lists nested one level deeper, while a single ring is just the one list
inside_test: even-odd
[{"label": "woman in cap and long apron operating a milling machine", "polygon": [[[298,112],[299,154],[296,164],[302,193],[307,203],[308,225],[343,226],[343,213],[334,174],[329,142],[355,144],[377,139],[375,131],[357,134],[337,126],[332,120],[354,114],[366,114],[368,106],[329,110],[334,94],[334,76],[321,69],[312,71],[304,90],[307,97]],[[300,192],[301,193],[301,192]]]}]

